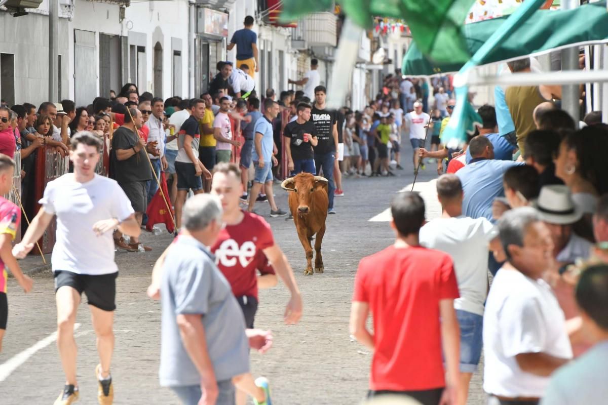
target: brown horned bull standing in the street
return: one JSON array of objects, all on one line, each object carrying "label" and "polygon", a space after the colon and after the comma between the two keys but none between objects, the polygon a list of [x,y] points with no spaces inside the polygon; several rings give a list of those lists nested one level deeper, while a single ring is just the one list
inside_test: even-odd
[{"label": "brown horned bull standing in the street", "polygon": [[281,187],[289,193],[289,210],[294,217],[295,229],[306,253],[305,276],[313,274],[313,248],[310,241],[316,234],[314,250],[314,271],[323,273],[323,257],[321,243],[325,234],[325,219],[330,204],[327,197],[327,179],[309,173],[300,173],[290,179],[285,179]]}]

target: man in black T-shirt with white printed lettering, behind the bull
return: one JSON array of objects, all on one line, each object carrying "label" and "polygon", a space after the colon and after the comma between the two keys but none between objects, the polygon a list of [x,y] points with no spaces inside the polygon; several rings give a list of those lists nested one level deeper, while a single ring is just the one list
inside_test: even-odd
[{"label": "man in black T-shirt with white printed lettering, behind the bull", "polygon": [[314,146],[314,165],[317,174],[323,170],[323,177],[328,180],[330,205],[329,214],[334,210],[334,165],[338,152],[338,130],[336,112],[328,110],[325,106],[326,90],[324,86],[314,88],[314,106],[311,111],[311,122],[317,130],[317,146]]}]

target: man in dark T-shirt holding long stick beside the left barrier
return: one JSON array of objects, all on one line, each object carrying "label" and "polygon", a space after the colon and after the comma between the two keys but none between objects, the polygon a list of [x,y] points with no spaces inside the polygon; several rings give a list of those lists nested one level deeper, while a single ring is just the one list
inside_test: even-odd
[{"label": "man in dark T-shirt holding long stick beside the left barrier", "polygon": [[[146,142],[139,137],[137,131],[143,125],[142,112],[136,109],[131,109],[130,112],[131,114],[125,114],[125,123],[114,131],[112,137],[112,173],[130,200],[137,223],[142,226],[143,213],[148,208],[146,182],[152,180],[152,171],[146,155]],[[137,237],[131,237],[127,245],[118,232],[114,234],[114,243],[128,251],[137,251],[139,247]],[[152,250],[147,246],[143,248],[145,251]]]}]

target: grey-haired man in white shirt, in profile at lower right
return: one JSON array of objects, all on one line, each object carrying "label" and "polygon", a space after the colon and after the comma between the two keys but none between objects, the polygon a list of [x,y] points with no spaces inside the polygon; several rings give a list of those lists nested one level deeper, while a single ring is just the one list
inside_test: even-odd
[{"label": "grey-haired man in white shirt, in profile at lower right", "polygon": [[531,207],[498,222],[507,262],[498,271],[483,316],[483,389],[489,405],[536,405],[549,376],[572,358],[564,313],[542,279],[553,240]]}]

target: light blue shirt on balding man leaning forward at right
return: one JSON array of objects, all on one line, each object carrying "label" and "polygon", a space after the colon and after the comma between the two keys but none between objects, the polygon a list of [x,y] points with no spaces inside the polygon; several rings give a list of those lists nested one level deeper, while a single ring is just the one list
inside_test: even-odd
[{"label": "light blue shirt on balding man leaning forward at right", "polygon": [[507,162],[496,159],[473,159],[471,163],[456,172],[462,183],[465,198],[462,202],[462,213],[471,218],[481,218],[494,222],[492,203],[496,197],[505,195],[502,177],[513,166],[524,165],[523,162]]}]

